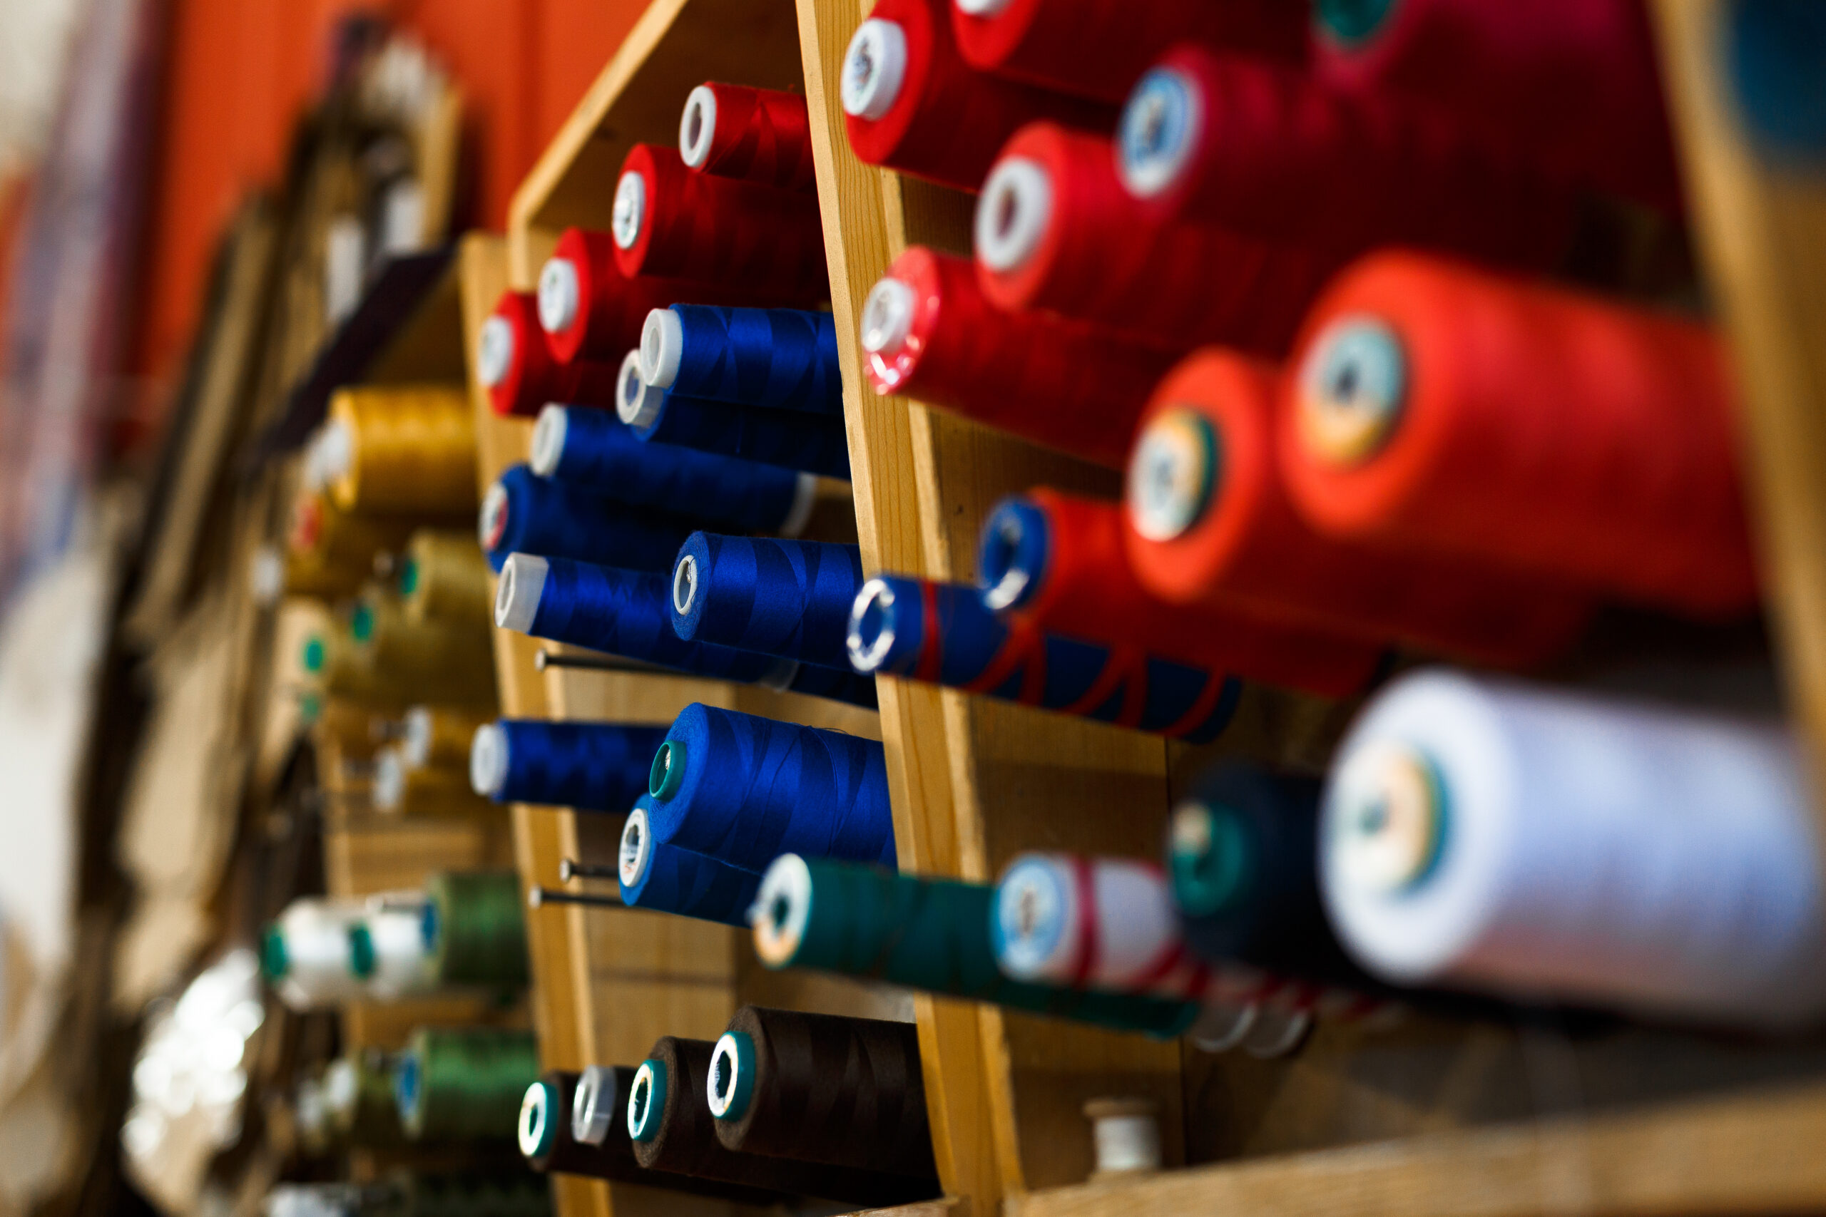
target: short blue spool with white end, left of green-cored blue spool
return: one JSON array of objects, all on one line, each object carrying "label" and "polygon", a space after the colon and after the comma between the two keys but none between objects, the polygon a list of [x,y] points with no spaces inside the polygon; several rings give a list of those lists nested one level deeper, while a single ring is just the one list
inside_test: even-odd
[{"label": "short blue spool with white end, left of green-cored blue spool", "polygon": [[621,723],[484,723],[469,746],[469,781],[495,803],[623,812],[646,794],[663,726]]}]

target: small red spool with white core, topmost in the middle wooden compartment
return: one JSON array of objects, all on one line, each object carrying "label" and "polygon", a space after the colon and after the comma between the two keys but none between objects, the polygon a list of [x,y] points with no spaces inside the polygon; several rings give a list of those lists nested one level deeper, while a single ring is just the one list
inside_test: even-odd
[{"label": "small red spool with white core, topmost in the middle wooden compartment", "polygon": [[699,173],[776,190],[818,190],[805,99],[747,84],[699,84],[679,117],[679,157]]}]

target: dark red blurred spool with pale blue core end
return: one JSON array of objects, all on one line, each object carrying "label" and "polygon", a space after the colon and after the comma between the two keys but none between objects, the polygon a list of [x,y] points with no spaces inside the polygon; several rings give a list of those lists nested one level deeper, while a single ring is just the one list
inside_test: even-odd
[{"label": "dark red blurred spool with pale blue core end", "polygon": [[1578,192],[1433,106],[1180,46],[1130,95],[1123,186],[1158,219],[1359,254],[1422,244],[1548,270]]}]

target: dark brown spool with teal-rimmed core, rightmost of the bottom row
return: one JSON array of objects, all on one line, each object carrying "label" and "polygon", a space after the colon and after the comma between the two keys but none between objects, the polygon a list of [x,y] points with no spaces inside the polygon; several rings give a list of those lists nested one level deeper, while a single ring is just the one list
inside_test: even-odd
[{"label": "dark brown spool with teal-rimmed core, rightmost of the bottom row", "polygon": [[918,1027],[743,1005],[710,1055],[730,1149],[882,1171],[939,1195]]}]

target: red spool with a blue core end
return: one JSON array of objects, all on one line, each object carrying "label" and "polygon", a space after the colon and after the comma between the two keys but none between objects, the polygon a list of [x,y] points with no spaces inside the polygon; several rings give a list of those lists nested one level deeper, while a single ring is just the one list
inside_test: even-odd
[{"label": "red spool with a blue core end", "polygon": [[1222,668],[1328,697],[1362,692],[1382,666],[1370,644],[1209,606],[1174,606],[1147,591],[1123,551],[1116,504],[1035,489],[1004,498],[977,546],[982,600],[1046,633]]}]

